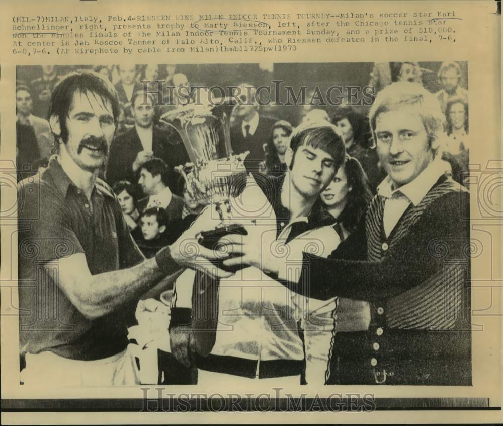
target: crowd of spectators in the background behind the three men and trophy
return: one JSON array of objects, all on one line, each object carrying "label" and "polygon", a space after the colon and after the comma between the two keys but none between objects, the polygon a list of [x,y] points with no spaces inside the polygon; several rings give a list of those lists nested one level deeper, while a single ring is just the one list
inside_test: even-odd
[{"label": "crowd of spectators in the background behind the three men and trophy", "polygon": [[[175,171],[176,166],[190,161],[182,138],[160,117],[188,102],[204,101],[209,90],[194,90],[190,76],[172,64],[92,68],[114,84],[120,101],[119,123],[101,177],[113,187],[132,235],[150,257],[158,248],[175,241],[202,208]],[[58,68],[50,65],[40,66],[40,72],[41,76],[32,81],[17,81],[18,179],[43,172],[56,145],[47,109],[61,76]],[[377,94],[395,81],[422,84],[423,75],[433,72],[418,62],[375,63],[369,85]],[[441,89],[435,95],[446,119],[442,158],[446,172],[463,183],[470,146],[468,92],[461,87],[466,76],[456,62],[438,64],[436,73]],[[260,173],[281,177],[288,171],[286,153],[297,125],[328,121],[338,128],[346,145],[347,160],[321,199],[337,222],[341,237],[346,237],[385,177],[367,117],[347,102],[329,115],[315,98],[309,98],[313,94],[309,91],[306,105],[292,106],[300,110],[299,122],[290,122],[278,114],[268,116],[270,108],[259,106],[253,83],[241,83],[239,88],[241,102],[231,116],[231,145],[235,154],[250,151],[246,166]]]}]

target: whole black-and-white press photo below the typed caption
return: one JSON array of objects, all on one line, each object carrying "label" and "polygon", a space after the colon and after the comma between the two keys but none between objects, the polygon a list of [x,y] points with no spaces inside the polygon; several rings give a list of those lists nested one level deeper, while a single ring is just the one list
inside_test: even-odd
[{"label": "whole black-and-white press photo below the typed caption", "polygon": [[472,385],[467,61],[18,65],[15,96],[24,387]]}]

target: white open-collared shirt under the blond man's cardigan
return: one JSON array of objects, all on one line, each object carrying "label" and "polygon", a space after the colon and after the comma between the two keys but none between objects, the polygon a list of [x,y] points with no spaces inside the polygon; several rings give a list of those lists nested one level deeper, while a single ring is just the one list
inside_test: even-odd
[{"label": "white open-collared shirt under the blond man's cardigan", "polygon": [[405,210],[412,203],[419,204],[440,176],[445,173],[445,164],[436,158],[412,182],[393,189],[389,176],[377,187],[377,194],[386,198],[384,202],[383,227],[386,237],[396,226]]}]

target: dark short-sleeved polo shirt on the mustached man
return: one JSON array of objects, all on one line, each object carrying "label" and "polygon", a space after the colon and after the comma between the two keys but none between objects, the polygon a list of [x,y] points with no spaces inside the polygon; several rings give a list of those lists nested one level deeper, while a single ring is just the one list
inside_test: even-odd
[{"label": "dark short-sleeved polo shirt on the mustached man", "polygon": [[92,275],[144,259],[110,187],[97,179],[89,202],[52,157],[41,176],[18,184],[18,219],[21,353],[97,360],[123,350],[136,301],[89,320],[58,283],[58,259],[76,253],[86,255]]}]

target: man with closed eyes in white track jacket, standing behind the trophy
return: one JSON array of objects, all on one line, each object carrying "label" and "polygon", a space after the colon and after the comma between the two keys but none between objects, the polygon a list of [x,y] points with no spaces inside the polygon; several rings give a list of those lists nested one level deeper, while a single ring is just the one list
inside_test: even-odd
[{"label": "man with closed eyes in white track jacket, standing behind the trophy", "polygon": [[[289,246],[313,244],[317,253],[327,249],[329,253],[340,240],[328,226],[333,224],[333,218],[323,210],[319,195],[332,181],[344,157],[344,144],[334,126],[309,123],[294,130],[286,152],[289,164],[286,175],[275,178],[255,174],[257,180],[249,178],[248,186],[239,196],[243,211],[261,210],[261,206],[269,206],[270,202],[272,214],[269,216],[271,210],[268,210],[266,221],[271,224],[276,219],[267,232],[251,225],[247,228],[249,237],[278,238]],[[319,230],[324,231],[315,233]],[[274,383],[298,385],[306,350],[313,357],[307,360],[305,379],[311,384],[325,382],[337,301],[306,302],[273,280],[263,291],[261,279],[258,269],[245,267],[234,277],[220,280],[215,328],[207,330],[198,328],[202,312],[197,304],[192,307],[194,322],[190,326],[190,284],[194,274],[186,271],[177,280],[170,331],[174,356],[189,365],[192,354],[187,349],[194,342],[199,348],[198,341],[207,341],[210,335],[215,339],[208,356],[196,355],[199,384],[223,380],[224,374],[233,375],[233,383],[271,379]],[[299,312],[309,312],[310,317],[317,319],[303,321],[308,328],[305,342],[299,334]],[[306,348],[304,343],[316,347]]]}]

